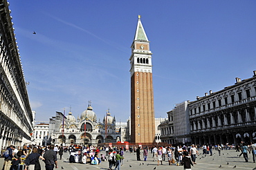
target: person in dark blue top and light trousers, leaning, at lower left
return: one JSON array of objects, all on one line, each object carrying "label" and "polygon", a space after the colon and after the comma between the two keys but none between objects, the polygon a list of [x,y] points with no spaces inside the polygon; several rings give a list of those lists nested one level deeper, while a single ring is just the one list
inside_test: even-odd
[{"label": "person in dark blue top and light trousers, leaning, at lower left", "polygon": [[41,170],[41,165],[39,163],[39,158],[44,160],[42,155],[37,152],[37,148],[34,147],[32,153],[28,155],[25,160],[26,167],[24,170]]}]

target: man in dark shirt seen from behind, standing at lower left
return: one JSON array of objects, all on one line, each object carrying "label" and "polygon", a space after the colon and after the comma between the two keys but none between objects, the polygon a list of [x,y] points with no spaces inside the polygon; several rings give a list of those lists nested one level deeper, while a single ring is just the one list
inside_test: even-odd
[{"label": "man in dark shirt seen from behind, standing at lower left", "polygon": [[53,151],[54,145],[51,144],[49,150],[44,153],[44,163],[46,164],[46,170],[53,170],[54,165],[57,168],[57,155]]}]

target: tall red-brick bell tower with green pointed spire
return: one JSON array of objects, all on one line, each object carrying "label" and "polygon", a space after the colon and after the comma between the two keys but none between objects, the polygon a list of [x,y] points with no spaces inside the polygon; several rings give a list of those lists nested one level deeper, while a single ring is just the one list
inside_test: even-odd
[{"label": "tall red-brick bell tower with green pointed spire", "polygon": [[152,143],[155,138],[152,53],[143,24],[138,16],[131,44],[131,142]]}]

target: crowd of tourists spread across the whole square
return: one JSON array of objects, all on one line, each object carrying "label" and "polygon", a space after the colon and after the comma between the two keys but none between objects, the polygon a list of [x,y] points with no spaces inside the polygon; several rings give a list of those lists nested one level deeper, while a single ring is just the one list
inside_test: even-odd
[{"label": "crowd of tourists spread across the whole square", "polygon": [[40,170],[39,160],[44,161],[46,170],[53,170],[57,168],[57,156],[60,156],[60,160],[62,160],[64,152],[69,153],[68,160],[71,163],[100,164],[102,161],[108,161],[109,170],[120,170],[125,151],[126,153],[136,153],[136,160],[147,161],[149,156],[152,156],[157,165],[167,161],[169,165],[183,165],[184,169],[191,169],[196,164],[196,155],[209,154],[211,156],[213,150],[221,155],[223,149],[236,149],[239,152],[239,157],[243,155],[245,162],[248,162],[251,153],[251,160],[255,163],[256,144],[245,144],[244,142],[237,144],[237,146],[228,144],[203,144],[203,146],[199,146],[192,144],[191,146],[129,147],[129,151],[126,151],[124,147],[93,147],[92,145],[71,145],[69,147],[24,145],[23,148],[15,148],[11,145],[6,148],[2,156],[5,159],[3,170],[17,170],[20,169],[20,166],[25,170]]}]

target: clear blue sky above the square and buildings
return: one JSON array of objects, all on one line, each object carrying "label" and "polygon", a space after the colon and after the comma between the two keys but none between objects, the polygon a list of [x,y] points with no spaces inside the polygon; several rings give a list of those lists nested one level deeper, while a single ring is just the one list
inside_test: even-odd
[{"label": "clear blue sky above the square and buildings", "polygon": [[[256,1],[9,0],[37,121],[130,115],[129,57],[138,15],[150,41],[156,117],[256,70]],[[33,35],[33,31],[37,32]]]}]

